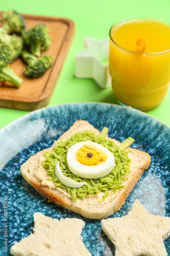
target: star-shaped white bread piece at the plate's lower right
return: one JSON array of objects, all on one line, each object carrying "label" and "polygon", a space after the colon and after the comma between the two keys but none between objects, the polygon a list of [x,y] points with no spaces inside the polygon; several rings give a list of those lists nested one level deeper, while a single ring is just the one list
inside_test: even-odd
[{"label": "star-shaped white bread piece at the plate's lower right", "polygon": [[127,215],[101,220],[101,227],[115,244],[115,256],[167,256],[164,240],[170,218],[155,216],[136,200]]}]

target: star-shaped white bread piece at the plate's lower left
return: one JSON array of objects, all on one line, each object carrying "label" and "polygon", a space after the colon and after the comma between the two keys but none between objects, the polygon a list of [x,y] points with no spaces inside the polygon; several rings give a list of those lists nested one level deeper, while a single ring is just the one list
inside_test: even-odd
[{"label": "star-shaped white bread piece at the plate's lower left", "polygon": [[84,221],[77,218],[53,219],[34,213],[34,233],[15,242],[10,249],[14,256],[91,256],[81,233]]}]

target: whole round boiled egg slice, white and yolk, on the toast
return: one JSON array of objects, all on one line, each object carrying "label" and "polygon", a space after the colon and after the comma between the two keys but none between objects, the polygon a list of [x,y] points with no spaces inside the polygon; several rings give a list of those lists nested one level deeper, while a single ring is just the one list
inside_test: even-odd
[{"label": "whole round boiled egg slice, white and yolk, on the toast", "polygon": [[67,152],[67,166],[81,178],[98,179],[108,175],[115,166],[115,159],[107,148],[91,142],[81,141]]}]

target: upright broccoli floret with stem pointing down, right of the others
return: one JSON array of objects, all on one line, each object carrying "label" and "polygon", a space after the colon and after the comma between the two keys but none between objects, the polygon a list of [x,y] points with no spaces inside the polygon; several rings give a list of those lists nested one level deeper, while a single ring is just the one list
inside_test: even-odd
[{"label": "upright broccoli floret with stem pointing down, right of the others", "polygon": [[31,54],[40,56],[41,51],[48,50],[51,45],[51,38],[48,35],[49,28],[43,24],[31,27],[29,30],[24,31],[23,41],[25,47],[30,47]]}]

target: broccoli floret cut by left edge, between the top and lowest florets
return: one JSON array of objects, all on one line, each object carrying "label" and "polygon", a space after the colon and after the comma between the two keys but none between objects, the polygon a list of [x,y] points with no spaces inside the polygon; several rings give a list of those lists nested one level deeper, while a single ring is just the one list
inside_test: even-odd
[{"label": "broccoli floret cut by left edge, between the top and lowest florets", "polygon": [[8,63],[16,59],[22,51],[23,41],[21,38],[13,34],[12,36],[8,35],[6,31],[0,27],[0,48],[3,47],[3,51],[8,50],[10,53],[10,59]]}]

